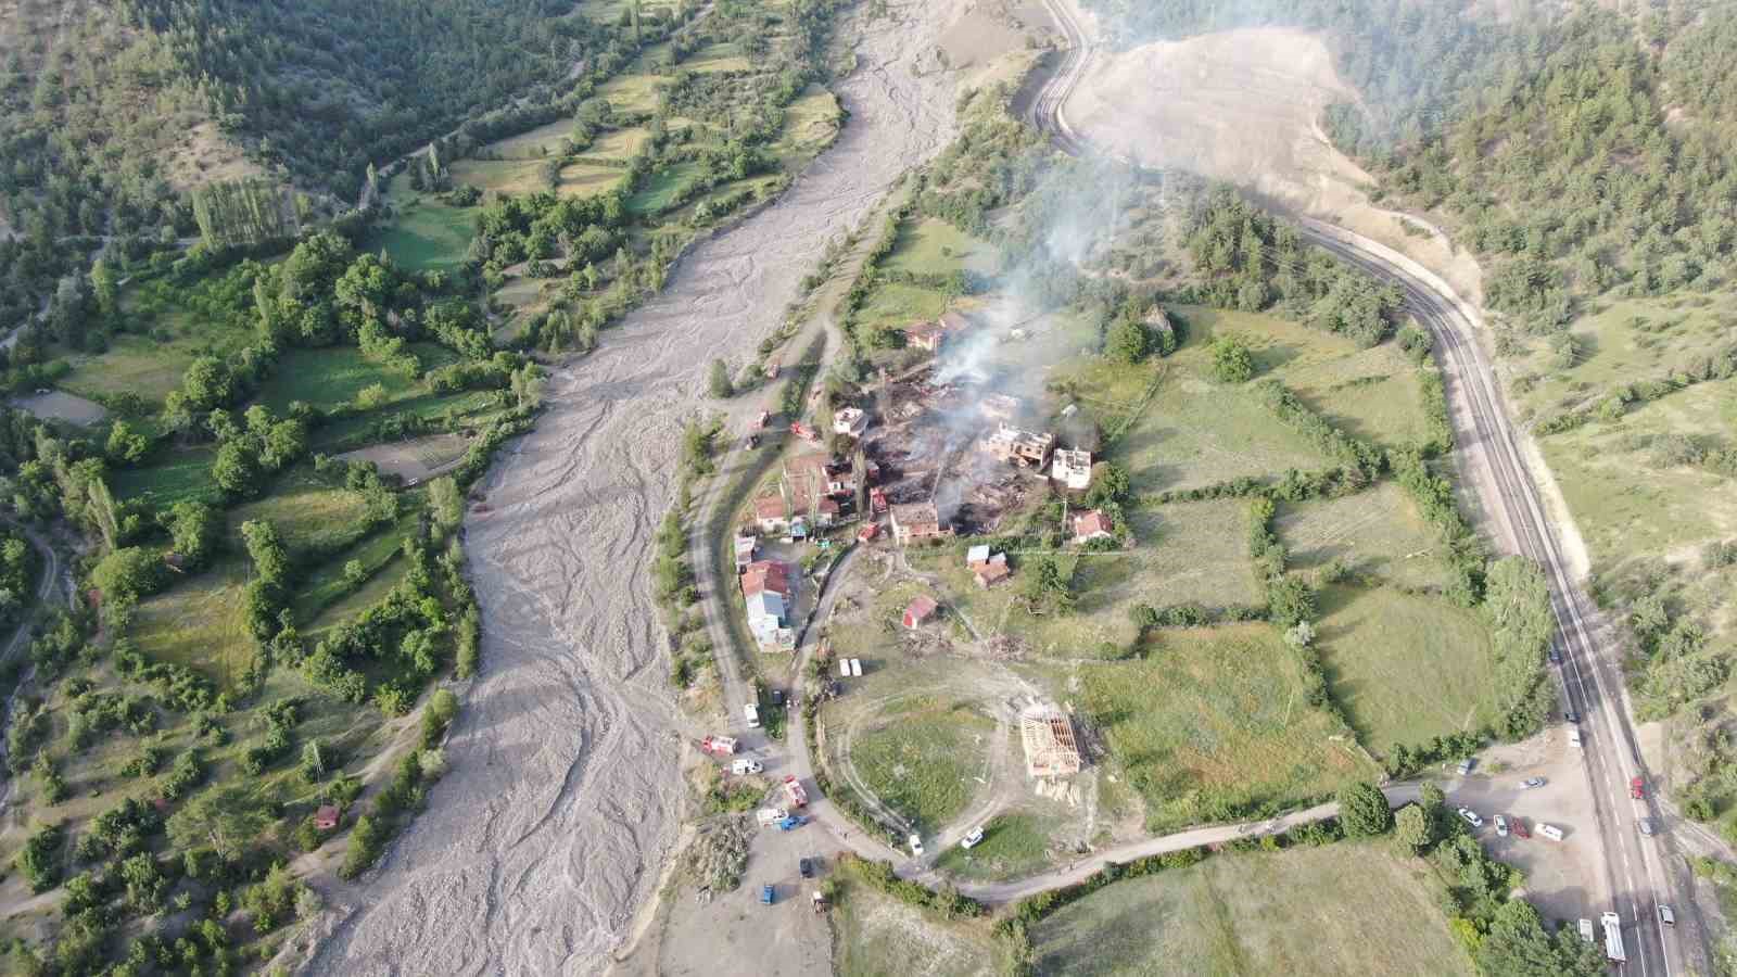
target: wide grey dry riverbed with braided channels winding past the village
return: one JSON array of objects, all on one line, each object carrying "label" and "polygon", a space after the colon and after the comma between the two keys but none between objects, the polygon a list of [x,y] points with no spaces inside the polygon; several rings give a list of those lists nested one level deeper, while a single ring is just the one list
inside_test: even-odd
[{"label": "wide grey dry riverbed with braided channels winding past the village", "polygon": [[384,869],[330,894],[309,974],[596,974],[627,935],[683,807],[648,572],[681,424],[712,407],[709,358],[745,358],[823,242],[950,137],[950,82],[912,66],[954,5],[862,24],[837,144],[552,377],[547,415],[485,485],[492,511],[466,525],[485,659],[452,774]]}]

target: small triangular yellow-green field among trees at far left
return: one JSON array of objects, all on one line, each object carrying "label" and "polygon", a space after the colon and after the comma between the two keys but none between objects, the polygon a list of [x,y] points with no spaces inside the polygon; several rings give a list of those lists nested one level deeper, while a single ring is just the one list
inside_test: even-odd
[{"label": "small triangular yellow-green field among trees at far left", "polygon": [[238,555],[141,601],[130,629],[134,643],[151,657],[233,685],[254,659],[245,600],[250,577],[247,556]]}]

